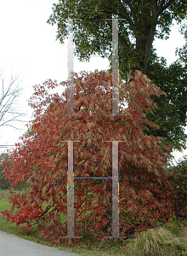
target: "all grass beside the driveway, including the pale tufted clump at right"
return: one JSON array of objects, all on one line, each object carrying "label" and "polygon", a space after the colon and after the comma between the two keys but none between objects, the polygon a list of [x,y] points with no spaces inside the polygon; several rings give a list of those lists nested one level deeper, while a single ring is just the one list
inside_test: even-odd
[{"label": "all grass beside the driveway, including the pale tufted clump at right", "polygon": [[[21,192],[17,191],[16,193]],[[10,209],[9,197],[8,191],[0,190],[0,212]],[[62,221],[66,219],[67,217],[65,215],[61,216]],[[38,235],[37,226],[34,226],[32,230],[21,230],[22,226],[23,224],[16,226],[16,224],[6,222],[6,220],[0,218],[0,230],[49,246],[48,241]],[[135,234],[135,237],[128,241],[122,239],[117,239],[116,241],[114,239],[105,239],[102,244],[87,236],[87,238],[75,244],[71,241],[72,247],[65,246],[64,243],[65,240],[59,246],[55,247],[68,252],[80,253],[80,255],[84,256],[183,256],[187,255],[187,225],[185,222],[184,224],[173,222],[170,228],[158,227],[156,229],[142,231],[139,234]]]}]

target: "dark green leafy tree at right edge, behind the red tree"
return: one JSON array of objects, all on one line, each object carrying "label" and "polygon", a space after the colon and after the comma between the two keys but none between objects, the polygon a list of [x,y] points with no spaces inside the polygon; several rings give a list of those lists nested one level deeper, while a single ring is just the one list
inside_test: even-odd
[{"label": "dark green leafy tree at right edge, behind the red tree", "polygon": [[165,143],[174,144],[176,149],[182,151],[186,148],[187,135],[184,133],[187,112],[187,69],[179,59],[167,67],[164,58],[151,55],[147,75],[166,92],[160,97],[150,96],[158,108],[146,117],[159,125],[159,129],[145,131],[148,135],[160,136]]}]

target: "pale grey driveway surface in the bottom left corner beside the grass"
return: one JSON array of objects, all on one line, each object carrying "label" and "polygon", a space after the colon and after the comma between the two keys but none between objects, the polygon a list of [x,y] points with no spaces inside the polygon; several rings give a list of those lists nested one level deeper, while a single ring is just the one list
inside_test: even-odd
[{"label": "pale grey driveway surface in the bottom left corner beside the grass", "polygon": [[42,246],[34,241],[28,241],[0,230],[1,256],[76,256],[79,253],[69,253],[53,247]]}]

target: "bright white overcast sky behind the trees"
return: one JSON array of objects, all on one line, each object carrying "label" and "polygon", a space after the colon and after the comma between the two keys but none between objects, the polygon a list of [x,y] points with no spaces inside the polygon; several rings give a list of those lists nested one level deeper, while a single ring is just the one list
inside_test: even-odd
[{"label": "bright white overcast sky behind the trees", "polygon": [[[14,105],[20,112],[26,112],[22,117],[24,122],[14,122],[11,126],[0,126],[0,145],[14,145],[19,137],[27,131],[26,124],[31,120],[32,110],[27,102],[31,97],[34,84],[42,84],[47,79],[58,82],[68,79],[67,70],[67,39],[65,44],[55,40],[57,26],[47,23],[52,15],[53,3],[57,0],[8,0],[0,2],[0,71],[3,71],[4,86],[8,86],[11,74],[17,76],[17,84],[23,88]],[[172,27],[170,38],[156,39],[154,47],[159,56],[167,59],[170,65],[177,59],[175,49],[185,44],[184,37],[178,32],[178,26]],[[74,72],[107,70],[109,61],[100,56],[92,57],[89,62],[79,62],[74,58]],[[14,83],[16,85],[16,83]],[[0,80],[1,84],[1,80]],[[0,91],[2,90],[0,85]],[[63,87],[59,88],[61,92]],[[60,91],[59,91],[60,93]],[[185,128],[187,133],[187,128]],[[0,148],[0,153],[5,148]],[[187,154],[175,151],[173,155],[178,160]]]}]

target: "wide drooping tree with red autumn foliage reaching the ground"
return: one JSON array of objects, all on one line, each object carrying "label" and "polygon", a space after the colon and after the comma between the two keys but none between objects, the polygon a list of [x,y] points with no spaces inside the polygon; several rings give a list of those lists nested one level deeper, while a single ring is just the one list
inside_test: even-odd
[{"label": "wide drooping tree with red autumn foliage reaching the ground", "polygon": [[[37,224],[42,236],[58,244],[67,230],[67,222],[60,219],[67,213],[68,146],[62,141],[80,141],[74,143],[74,177],[112,177],[112,147],[106,141],[124,141],[118,146],[120,236],[155,227],[156,221],[167,222],[179,206],[179,194],[166,173],[173,146],[164,147],[161,137],[143,132],[144,124],[156,127],[144,118],[156,107],[149,96],[164,92],[140,72],[131,73],[128,84],[121,79],[119,83],[122,116],[106,116],[111,114],[111,73],[96,70],[80,77],[74,73],[73,84],[77,116],[67,116],[67,90],[62,96],[49,94],[58,86],[55,81],[34,87],[29,103],[34,119],[10,154],[13,166],[6,167],[14,187],[25,180],[28,191],[23,195],[12,191],[13,206],[3,212],[4,218],[29,229]],[[131,103],[124,108],[127,99]],[[84,230],[98,240],[111,236],[111,180],[75,179],[74,184],[75,236]]]}]

